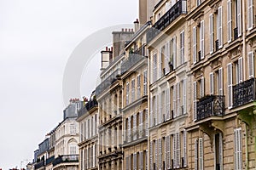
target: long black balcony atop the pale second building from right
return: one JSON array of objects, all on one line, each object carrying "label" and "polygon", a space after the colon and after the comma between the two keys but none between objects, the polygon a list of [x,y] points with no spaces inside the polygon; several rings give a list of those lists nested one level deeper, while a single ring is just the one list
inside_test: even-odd
[{"label": "long black balcony atop the pale second building from right", "polygon": [[170,26],[181,14],[187,14],[187,0],[179,0],[147,32],[147,43]]}]

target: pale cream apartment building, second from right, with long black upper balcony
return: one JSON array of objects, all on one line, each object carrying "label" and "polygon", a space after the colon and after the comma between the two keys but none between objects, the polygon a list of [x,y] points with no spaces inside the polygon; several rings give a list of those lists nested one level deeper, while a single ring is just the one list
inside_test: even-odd
[{"label": "pale cream apartment building, second from right, with long black upper balcony", "polygon": [[155,4],[149,51],[149,169],[187,168],[189,26],[185,0]]}]

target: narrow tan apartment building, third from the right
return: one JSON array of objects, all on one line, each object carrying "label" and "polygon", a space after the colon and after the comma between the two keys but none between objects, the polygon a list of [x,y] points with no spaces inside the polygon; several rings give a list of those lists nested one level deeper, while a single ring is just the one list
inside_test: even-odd
[{"label": "narrow tan apartment building, third from the right", "polygon": [[125,44],[125,59],[121,64],[123,84],[123,169],[148,169],[148,57],[146,32],[135,21],[135,35]]}]

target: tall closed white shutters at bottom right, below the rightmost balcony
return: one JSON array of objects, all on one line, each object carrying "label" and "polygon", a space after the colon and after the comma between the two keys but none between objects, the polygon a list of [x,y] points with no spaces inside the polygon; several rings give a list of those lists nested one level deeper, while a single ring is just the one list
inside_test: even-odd
[{"label": "tall closed white shutters at bottom right, below the rightmost balcony", "polygon": [[235,129],[235,169],[242,169],[241,127]]}]

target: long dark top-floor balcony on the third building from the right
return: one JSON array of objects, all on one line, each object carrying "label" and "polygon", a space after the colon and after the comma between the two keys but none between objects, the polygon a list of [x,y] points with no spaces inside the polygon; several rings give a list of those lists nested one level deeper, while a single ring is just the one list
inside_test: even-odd
[{"label": "long dark top-floor balcony on the third building from the right", "polygon": [[126,71],[129,71],[133,65],[136,65],[139,61],[143,60],[145,56],[145,45],[138,48],[135,52],[129,54],[128,59],[126,59],[121,65],[121,75]]}]

